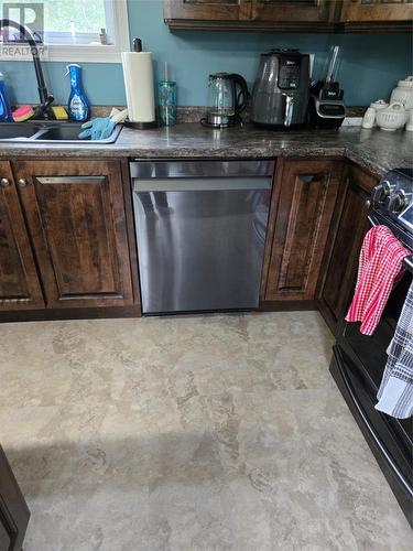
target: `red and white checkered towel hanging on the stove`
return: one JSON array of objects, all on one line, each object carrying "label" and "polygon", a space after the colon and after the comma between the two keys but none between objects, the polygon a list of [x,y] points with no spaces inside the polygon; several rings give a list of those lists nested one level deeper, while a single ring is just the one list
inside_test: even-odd
[{"label": "red and white checkered towel hanging on the stove", "polygon": [[385,226],[374,226],[362,242],[356,291],[347,322],[361,322],[360,333],[372,335],[394,282],[403,269],[405,249]]}]

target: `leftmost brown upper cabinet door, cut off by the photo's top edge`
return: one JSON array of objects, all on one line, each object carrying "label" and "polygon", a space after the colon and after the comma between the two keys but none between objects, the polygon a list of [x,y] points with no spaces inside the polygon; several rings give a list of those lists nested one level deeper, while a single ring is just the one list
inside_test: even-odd
[{"label": "leftmost brown upper cabinet door, cut off by the photo's top edge", "polygon": [[251,0],[164,0],[166,20],[239,21],[250,13]]}]

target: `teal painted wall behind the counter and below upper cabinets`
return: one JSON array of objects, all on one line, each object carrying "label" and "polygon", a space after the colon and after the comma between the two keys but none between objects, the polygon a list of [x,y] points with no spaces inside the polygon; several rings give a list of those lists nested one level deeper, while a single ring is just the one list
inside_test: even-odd
[{"label": "teal painted wall behind the counter and below upper cabinets", "polygon": [[[347,105],[368,105],[388,98],[396,80],[412,74],[411,35],[403,34],[298,34],[247,32],[171,33],[163,23],[162,0],[129,0],[131,39],[140,36],[154,54],[155,75],[169,62],[178,85],[180,105],[205,105],[209,73],[242,74],[251,86],[259,54],[272,47],[298,47],[316,55],[315,75],[324,67],[332,44],[344,47],[340,83]],[[57,102],[66,102],[68,82],[65,63],[45,63],[45,76]],[[37,100],[35,78],[29,62],[0,62],[15,102]],[[84,64],[84,83],[95,105],[123,105],[124,88],[120,64]]]}]

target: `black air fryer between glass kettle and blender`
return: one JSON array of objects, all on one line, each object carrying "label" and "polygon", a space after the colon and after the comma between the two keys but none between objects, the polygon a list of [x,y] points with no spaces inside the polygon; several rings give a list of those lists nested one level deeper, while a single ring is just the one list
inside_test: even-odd
[{"label": "black air fryer between glass kettle and blender", "polygon": [[308,54],[298,50],[272,50],[261,54],[252,91],[252,122],[274,128],[304,125],[308,93]]}]

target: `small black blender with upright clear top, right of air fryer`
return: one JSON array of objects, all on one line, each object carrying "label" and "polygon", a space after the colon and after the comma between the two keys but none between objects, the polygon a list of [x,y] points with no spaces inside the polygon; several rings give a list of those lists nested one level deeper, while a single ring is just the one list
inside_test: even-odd
[{"label": "small black blender with upright clear top, right of air fryer", "polygon": [[309,89],[308,122],[315,128],[339,128],[346,117],[344,90],[338,83],[340,46],[332,46],[322,80]]}]

